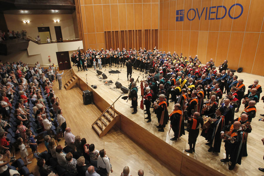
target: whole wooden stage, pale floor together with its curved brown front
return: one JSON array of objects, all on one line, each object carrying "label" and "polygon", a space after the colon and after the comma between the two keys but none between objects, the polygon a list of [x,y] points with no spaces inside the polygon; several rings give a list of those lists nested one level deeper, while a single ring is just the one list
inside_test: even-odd
[{"label": "whole wooden stage, pale floor together with its curved brown front", "polygon": [[[126,77],[126,67],[112,67],[112,70],[119,70],[119,74],[110,74],[108,71],[110,67],[104,67],[102,71],[108,78],[102,78],[102,75],[98,76],[94,68],[89,68],[88,71],[78,71],[77,67],[73,67],[74,74],[79,77],[79,82],[77,83],[81,90],[93,91],[94,103],[101,110],[104,111],[106,107],[112,104],[116,98],[122,94],[120,89],[114,89],[115,82],[120,82],[124,87],[128,87],[129,82]],[[244,79],[244,84],[247,87],[253,83],[254,79],[259,80],[260,85],[264,85],[264,78],[258,75],[252,75],[248,73],[235,73],[238,79]],[[146,76],[144,73],[140,73],[138,70],[133,70],[132,77],[136,80],[145,80]],[[118,79],[119,78],[119,79]],[[88,82],[88,87],[86,85],[86,80]],[[112,80],[112,84],[105,84],[105,80]],[[91,85],[96,85],[97,89],[91,88]],[[195,145],[195,153],[186,153],[185,149],[189,148],[188,145],[188,132],[185,131],[185,135],[182,136],[178,141],[170,141],[173,138],[173,131],[170,131],[170,121],[168,125],[164,128],[165,132],[158,132],[158,120],[156,115],[151,111],[150,123],[146,123],[147,120],[144,119],[144,111],[140,109],[141,101],[141,91],[140,83],[138,86],[138,112],[136,114],[131,114],[133,111],[131,106],[131,101],[119,99],[115,103],[116,111],[121,115],[119,123],[116,124],[124,133],[126,133],[133,141],[138,143],[139,146],[146,148],[152,155],[159,158],[164,165],[169,167],[169,169],[175,174],[181,175],[263,175],[263,172],[258,170],[258,167],[264,167],[263,162],[263,143],[261,139],[263,136],[263,121],[258,121],[259,114],[264,114],[263,101],[256,105],[257,115],[252,120],[252,132],[248,135],[247,150],[248,156],[242,158],[241,165],[236,165],[234,170],[229,171],[229,165],[227,163],[220,162],[220,159],[225,158],[225,148],[224,142],[221,145],[220,153],[207,152],[209,146],[205,145],[207,141],[202,136],[198,136]],[[260,94],[262,97],[264,93]],[[223,95],[224,97],[224,95]],[[170,103],[168,106],[169,114],[173,110],[174,103]],[[244,106],[241,105],[240,111],[235,113],[235,118],[237,118],[243,111]],[[145,117],[147,115],[145,114]],[[90,124],[91,127],[92,124]],[[200,130],[201,133],[201,130]],[[199,133],[199,135],[200,135]],[[107,136],[107,135],[106,135]],[[105,137],[105,136],[104,136]],[[103,137],[103,138],[104,138]]]}]

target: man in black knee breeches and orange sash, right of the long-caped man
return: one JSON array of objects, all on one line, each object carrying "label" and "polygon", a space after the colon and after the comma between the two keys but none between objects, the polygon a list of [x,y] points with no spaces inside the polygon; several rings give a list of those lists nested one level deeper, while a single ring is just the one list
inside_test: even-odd
[{"label": "man in black knee breeches and orange sash, right of the long-caped man", "polygon": [[187,131],[189,132],[188,144],[190,146],[190,148],[185,151],[188,153],[192,153],[195,152],[196,139],[199,135],[199,129],[204,125],[204,120],[200,116],[199,112],[194,112],[193,116],[191,117],[188,117],[187,111],[185,111],[184,113],[184,115],[188,118],[189,129],[187,128]]}]

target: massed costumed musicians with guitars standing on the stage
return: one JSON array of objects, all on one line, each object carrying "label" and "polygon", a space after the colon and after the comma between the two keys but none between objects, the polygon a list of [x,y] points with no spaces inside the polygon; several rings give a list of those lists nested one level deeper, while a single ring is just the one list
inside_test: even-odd
[{"label": "massed costumed musicians with guitars standing on the stage", "polygon": [[[155,47],[153,51],[145,48],[90,48],[82,54],[78,50],[73,53],[72,62],[77,64],[78,70],[82,70],[82,67],[87,70],[87,67],[94,66],[96,70],[97,67],[126,65],[127,79],[131,82],[127,97],[131,99],[132,114],[137,113],[138,106],[138,87],[131,77],[132,70],[149,74],[142,96],[145,114],[148,115],[145,118],[148,119],[147,123],[151,122],[150,108],[153,108],[158,118],[158,131],[164,132],[170,120],[170,127],[174,131],[172,141],[188,131],[190,148],[185,150],[188,153],[195,152],[199,129],[202,128],[201,136],[207,140],[208,152],[219,153],[224,141],[226,158],[221,162],[231,161],[229,170],[233,170],[236,163],[241,164],[242,156],[247,156],[247,137],[252,130],[250,123],[256,115],[255,104],[260,100],[262,88],[255,79],[247,86],[247,91],[243,79],[238,79],[235,71],[228,69],[227,60],[217,65],[219,69],[216,69],[213,59],[202,65],[197,55],[187,58],[182,53],[165,53]],[[169,114],[167,107],[173,102],[174,110]],[[234,119],[241,105],[244,105],[244,110],[239,118]]]}]

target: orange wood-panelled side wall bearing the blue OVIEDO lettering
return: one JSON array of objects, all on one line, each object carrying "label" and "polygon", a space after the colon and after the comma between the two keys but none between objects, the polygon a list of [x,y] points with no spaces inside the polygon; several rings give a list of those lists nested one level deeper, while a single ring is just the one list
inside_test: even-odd
[{"label": "orange wood-panelled side wall bearing the blue OVIEDO lettering", "polygon": [[213,58],[216,66],[227,59],[231,69],[264,75],[262,1],[160,0],[159,6],[158,48],[197,54],[202,63]]}]

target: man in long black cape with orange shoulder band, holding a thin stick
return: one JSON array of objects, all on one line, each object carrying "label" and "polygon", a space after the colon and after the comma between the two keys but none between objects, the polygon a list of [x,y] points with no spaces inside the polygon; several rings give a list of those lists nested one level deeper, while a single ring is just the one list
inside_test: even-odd
[{"label": "man in long black cape with orange shoulder band, holding a thin stick", "polygon": [[176,103],[174,105],[174,110],[170,114],[170,127],[174,132],[174,138],[171,138],[171,141],[176,141],[179,137],[185,134],[184,125],[183,125],[183,118],[182,118],[182,110],[181,105]]}]

